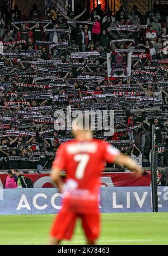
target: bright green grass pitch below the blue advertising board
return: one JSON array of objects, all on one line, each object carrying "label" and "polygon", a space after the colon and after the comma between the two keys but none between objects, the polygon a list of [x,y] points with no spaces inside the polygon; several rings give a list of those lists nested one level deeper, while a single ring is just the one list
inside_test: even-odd
[{"label": "bright green grass pitch below the blue advertising board", "polygon": [[[0,245],[47,244],[54,215],[0,216]],[[102,231],[97,244],[168,244],[168,213],[103,213]],[[77,222],[72,241],[85,244]]]}]

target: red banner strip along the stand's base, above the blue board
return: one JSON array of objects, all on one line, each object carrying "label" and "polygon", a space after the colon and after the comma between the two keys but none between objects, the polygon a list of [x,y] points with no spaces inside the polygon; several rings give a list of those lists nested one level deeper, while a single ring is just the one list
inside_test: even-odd
[{"label": "red banner strip along the stand's base, above the blue board", "polygon": [[[0,174],[0,188],[3,187],[7,174]],[[24,174],[35,181],[34,188],[53,188],[55,185],[50,180],[49,174]],[[141,178],[136,178],[134,173],[102,173],[101,187],[147,187],[151,185],[151,173]]]}]

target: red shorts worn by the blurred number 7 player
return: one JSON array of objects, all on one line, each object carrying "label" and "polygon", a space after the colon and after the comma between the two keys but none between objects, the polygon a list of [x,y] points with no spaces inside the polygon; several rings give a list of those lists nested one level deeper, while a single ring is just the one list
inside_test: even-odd
[{"label": "red shorts worn by the blurred number 7 player", "polygon": [[99,213],[76,213],[60,211],[55,217],[50,235],[58,240],[71,239],[77,218],[82,220],[82,228],[88,240],[95,240],[99,236],[100,216]]}]

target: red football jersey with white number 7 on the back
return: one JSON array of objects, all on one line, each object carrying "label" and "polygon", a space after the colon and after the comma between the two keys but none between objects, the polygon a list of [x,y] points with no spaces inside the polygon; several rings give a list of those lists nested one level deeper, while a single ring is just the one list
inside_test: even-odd
[{"label": "red football jersey with white number 7 on the back", "polygon": [[100,139],[86,141],[73,139],[59,146],[52,167],[58,167],[67,173],[64,198],[76,202],[68,207],[74,210],[77,201],[83,201],[80,206],[81,210],[83,208],[82,211],[87,211],[86,208],[91,210],[91,202],[92,206],[98,206],[100,173],[105,162],[113,162],[114,156],[119,154],[118,149]]}]

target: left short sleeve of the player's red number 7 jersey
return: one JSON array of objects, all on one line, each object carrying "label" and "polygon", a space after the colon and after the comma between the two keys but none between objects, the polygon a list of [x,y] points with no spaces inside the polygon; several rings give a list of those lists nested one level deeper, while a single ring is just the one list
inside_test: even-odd
[{"label": "left short sleeve of the player's red number 7 jersey", "polygon": [[64,144],[60,145],[57,150],[57,155],[52,164],[52,168],[66,169],[66,147]]}]

